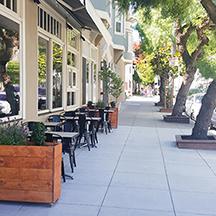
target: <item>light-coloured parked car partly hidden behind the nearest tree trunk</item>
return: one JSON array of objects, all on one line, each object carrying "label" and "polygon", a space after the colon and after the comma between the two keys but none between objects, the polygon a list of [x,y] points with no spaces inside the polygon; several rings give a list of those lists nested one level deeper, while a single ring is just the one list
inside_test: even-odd
[{"label": "light-coloured parked car partly hidden behind the nearest tree trunk", "polygon": [[[199,114],[199,110],[202,106],[203,96],[203,93],[197,93],[187,98],[185,112],[193,120],[196,120],[196,117]],[[212,127],[216,128],[216,109],[214,110],[211,118],[211,128]]]}]

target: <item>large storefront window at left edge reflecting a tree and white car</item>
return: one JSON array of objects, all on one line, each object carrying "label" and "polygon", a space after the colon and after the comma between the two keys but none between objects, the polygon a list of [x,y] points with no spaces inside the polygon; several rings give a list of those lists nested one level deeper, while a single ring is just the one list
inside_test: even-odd
[{"label": "large storefront window at left edge reflecting a tree and white car", "polygon": [[20,112],[19,25],[0,15],[0,118]]}]

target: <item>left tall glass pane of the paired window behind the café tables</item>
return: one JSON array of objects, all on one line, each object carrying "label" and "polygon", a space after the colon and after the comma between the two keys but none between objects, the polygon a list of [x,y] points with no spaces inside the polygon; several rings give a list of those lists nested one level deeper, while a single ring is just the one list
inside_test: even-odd
[{"label": "left tall glass pane of the paired window behind the caf\u00e9 tables", "polygon": [[47,61],[48,41],[38,40],[38,110],[48,109]]}]

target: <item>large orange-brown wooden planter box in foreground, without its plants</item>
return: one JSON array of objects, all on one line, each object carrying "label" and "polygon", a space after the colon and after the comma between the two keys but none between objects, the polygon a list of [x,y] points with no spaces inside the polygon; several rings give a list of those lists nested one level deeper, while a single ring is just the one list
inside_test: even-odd
[{"label": "large orange-brown wooden planter box in foreground, without its plants", "polygon": [[61,194],[62,145],[0,145],[0,200],[54,203]]}]

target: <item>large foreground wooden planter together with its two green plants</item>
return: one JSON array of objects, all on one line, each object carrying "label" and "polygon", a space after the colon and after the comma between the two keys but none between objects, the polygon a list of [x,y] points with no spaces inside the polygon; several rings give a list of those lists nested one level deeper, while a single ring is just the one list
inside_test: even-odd
[{"label": "large foreground wooden planter together with its two green plants", "polygon": [[45,128],[35,123],[31,142],[26,128],[0,125],[0,200],[54,203],[61,194],[61,144],[45,143]]}]

